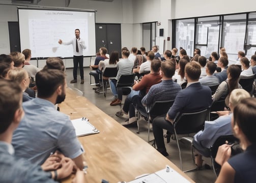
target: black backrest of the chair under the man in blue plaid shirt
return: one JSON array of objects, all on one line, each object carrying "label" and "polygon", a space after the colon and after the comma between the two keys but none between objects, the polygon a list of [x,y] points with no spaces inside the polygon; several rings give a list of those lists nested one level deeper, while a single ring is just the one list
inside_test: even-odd
[{"label": "black backrest of the chair under the man in blue plaid shirt", "polygon": [[151,109],[150,109],[150,116],[151,118],[155,118],[156,116],[161,116],[167,114],[170,107],[174,104],[174,100],[167,100],[167,101],[156,101]]}]

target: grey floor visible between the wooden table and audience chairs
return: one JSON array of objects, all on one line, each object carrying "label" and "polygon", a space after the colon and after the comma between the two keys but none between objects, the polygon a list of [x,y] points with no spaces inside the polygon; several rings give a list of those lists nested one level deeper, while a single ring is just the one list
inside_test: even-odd
[{"label": "grey floor visible between the wooden table and audience chairs", "polygon": [[[90,85],[90,75],[89,75],[90,69],[84,68],[84,84],[80,84],[80,77],[79,77],[79,69],[78,69],[78,77],[77,77],[77,83],[70,83],[70,80],[73,79],[72,69],[67,69],[67,83],[68,86],[75,89],[77,91],[77,94],[82,95],[89,99],[93,104],[95,104],[99,109],[104,111],[106,114],[111,116],[112,118],[116,119],[119,123],[124,121],[124,119],[121,119],[117,117],[115,114],[117,111],[120,110],[120,106],[110,106],[111,102],[111,92],[110,90],[107,90],[107,96],[106,98],[103,96],[103,94],[96,94],[93,90],[94,85]],[[94,78],[92,77],[92,82],[94,83]],[[125,97],[123,97],[124,102]],[[137,134],[137,127],[129,127],[129,130],[132,131],[135,135],[139,136],[140,138],[147,141],[148,138],[148,127],[147,123],[143,118],[139,119],[139,124],[141,124],[140,133]],[[150,138],[153,139],[153,133],[151,131]],[[166,143],[166,140],[165,140]],[[183,170],[193,169],[195,168],[195,165],[191,158],[191,149],[190,144],[187,142],[181,141],[181,150],[182,150],[182,161],[183,161]],[[174,140],[170,140],[170,143],[166,144],[167,153],[169,154],[167,159],[172,161],[175,165],[180,167],[180,161],[179,161],[179,151],[177,147],[177,143]],[[150,159],[150,157],[149,157]],[[150,160],[149,160],[150,161]],[[205,158],[205,161],[207,164],[211,165],[211,161],[208,158]],[[147,173],[147,172],[145,172]],[[191,179],[193,179],[195,182],[214,182],[215,181],[215,175],[213,171],[210,170],[200,170],[195,172],[189,172],[186,173]]]}]

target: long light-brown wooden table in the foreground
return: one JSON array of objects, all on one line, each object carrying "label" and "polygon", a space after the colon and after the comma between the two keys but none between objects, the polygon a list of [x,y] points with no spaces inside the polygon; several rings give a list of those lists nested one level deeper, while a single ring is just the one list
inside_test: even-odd
[{"label": "long light-brown wooden table in the foreground", "polygon": [[[90,123],[100,131],[98,134],[78,137],[84,147],[83,156],[88,165],[86,182],[101,182],[102,179],[110,183],[131,181],[138,175],[164,169],[165,165],[194,182],[149,143],[120,125],[87,98],[77,95],[71,88],[67,88],[66,99],[60,105],[60,110],[70,115],[71,119],[89,118]],[[71,178],[63,182],[71,182]]]}]

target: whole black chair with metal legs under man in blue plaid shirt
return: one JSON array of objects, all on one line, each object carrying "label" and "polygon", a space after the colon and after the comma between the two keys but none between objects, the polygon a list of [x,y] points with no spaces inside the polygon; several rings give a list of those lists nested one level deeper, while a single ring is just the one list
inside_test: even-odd
[{"label": "whole black chair with metal legs under man in blue plaid shirt", "polygon": [[[150,142],[150,123],[152,122],[152,120],[155,117],[166,114],[168,112],[169,108],[173,106],[173,104],[174,104],[174,100],[156,101],[151,106],[145,107],[147,113],[145,113],[145,111],[141,111],[138,109],[137,116],[139,116],[139,115],[144,116],[148,122],[148,142]],[[137,126],[138,126],[137,134],[139,133],[138,121],[139,120],[137,120]]]}]

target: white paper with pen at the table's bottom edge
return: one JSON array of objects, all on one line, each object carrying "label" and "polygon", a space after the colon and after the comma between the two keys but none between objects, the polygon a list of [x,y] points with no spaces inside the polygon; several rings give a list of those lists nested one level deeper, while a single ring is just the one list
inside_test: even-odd
[{"label": "white paper with pen at the table's bottom edge", "polygon": [[[166,168],[168,167],[168,171]],[[175,171],[173,168],[166,166],[165,169],[152,174],[137,178],[127,183],[168,183],[168,182],[189,182],[185,177]]]}]

